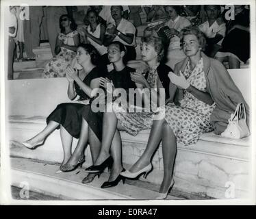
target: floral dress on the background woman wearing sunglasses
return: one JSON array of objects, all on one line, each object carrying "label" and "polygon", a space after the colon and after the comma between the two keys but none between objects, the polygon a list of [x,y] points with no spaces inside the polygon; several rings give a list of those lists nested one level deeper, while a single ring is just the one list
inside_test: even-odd
[{"label": "floral dress on the background woman wearing sunglasses", "polygon": [[[59,34],[58,37],[64,39],[64,44],[68,46],[75,46],[74,36],[78,34],[77,31],[72,31],[68,34]],[[44,67],[43,77],[51,78],[51,77],[65,77],[65,70],[68,66],[71,65],[71,62],[75,58],[75,51],[70,49],[66,49],[64,47],[60,48],[60,53],[55,55],[49,63]]]}]

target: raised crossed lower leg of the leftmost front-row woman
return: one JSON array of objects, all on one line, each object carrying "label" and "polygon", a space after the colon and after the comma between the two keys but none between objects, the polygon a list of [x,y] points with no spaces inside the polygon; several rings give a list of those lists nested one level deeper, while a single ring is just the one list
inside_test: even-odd
[{"label": "raised crossed lower leg of the leftmost front-row woman", "polygon": [[40,131],[36,136],[33,138],[30,138],[26,142],[31,145],[37,145],[40,142],[43,142],[47,136],[49,136],[50,133],[52,133],[60,124],[56,123],[55,121],[50,121],[48,125]]}]

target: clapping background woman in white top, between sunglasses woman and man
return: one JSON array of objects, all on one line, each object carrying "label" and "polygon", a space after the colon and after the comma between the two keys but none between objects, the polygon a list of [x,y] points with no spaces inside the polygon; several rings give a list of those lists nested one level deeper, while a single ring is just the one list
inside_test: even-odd
[{"label": "clapping background woman in white top, between sunglasses woman and man", "polygon": [[106,27],[100,23],[99,15],[95,10],[88,10],[86,14],[89,25],[86,28],[79,29],[81,40],[92,44],[100,55],[107,53],[107,47],[103,45]]}]

